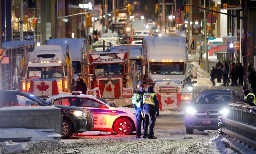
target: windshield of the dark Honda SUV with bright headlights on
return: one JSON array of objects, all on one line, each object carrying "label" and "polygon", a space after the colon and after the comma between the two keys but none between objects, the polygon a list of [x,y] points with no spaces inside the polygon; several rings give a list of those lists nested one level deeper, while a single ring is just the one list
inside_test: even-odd
[{"label": "windshield of the dark Honda SUV with bright headlights on", "polygon": [[200,93],[193,103],[195,104],[227,104],[231,101],[231,94],[228,93]]}]

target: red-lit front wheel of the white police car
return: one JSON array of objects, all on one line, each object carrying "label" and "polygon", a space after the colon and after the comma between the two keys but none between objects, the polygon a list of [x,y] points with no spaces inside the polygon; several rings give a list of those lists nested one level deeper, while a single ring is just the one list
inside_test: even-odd
[{"label": "red-lit front wheel of the white police car", "polygon": [[119,118],[114,124],[116,134],[131,134],[133,131],[132,121],[128,118]]}]

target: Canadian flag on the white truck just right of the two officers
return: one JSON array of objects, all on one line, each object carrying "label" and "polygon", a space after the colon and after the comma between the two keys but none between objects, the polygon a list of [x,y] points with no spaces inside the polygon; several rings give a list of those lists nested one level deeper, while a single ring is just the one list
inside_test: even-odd
[{"label": "Canadian flag on the white truck just right of the two officers", "polygon": [[180,93],[171,93],[170,95],[159,95],[157,94],[159,100],[159,109],[177,109],[181,105],[181,94]]}]

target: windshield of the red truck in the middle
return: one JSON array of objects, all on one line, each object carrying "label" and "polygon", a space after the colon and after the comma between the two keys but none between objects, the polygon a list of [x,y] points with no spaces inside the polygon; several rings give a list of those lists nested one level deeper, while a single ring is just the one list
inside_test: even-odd
[{"label": "windshield of the red truck in the middle", "polygon": [[95,65],[95,75],[101,74],[123,74],[123,64],[99,64]]}]

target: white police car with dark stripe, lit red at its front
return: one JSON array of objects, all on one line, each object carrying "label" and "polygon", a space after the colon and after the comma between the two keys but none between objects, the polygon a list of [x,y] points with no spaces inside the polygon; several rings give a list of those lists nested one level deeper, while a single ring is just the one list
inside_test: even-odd
[{"label": "white police car with dark stripe, lit red at its front", "polygon": [[46,99],[47,102],[53,99],[54,104],[90,109],[94,118],[94,127],[91,131],[115,131],[117,134],[131,134],[136,129],[136,111],[133,108],[117,107],[96,96],[83,95],[79,91],[53,95]]}]

